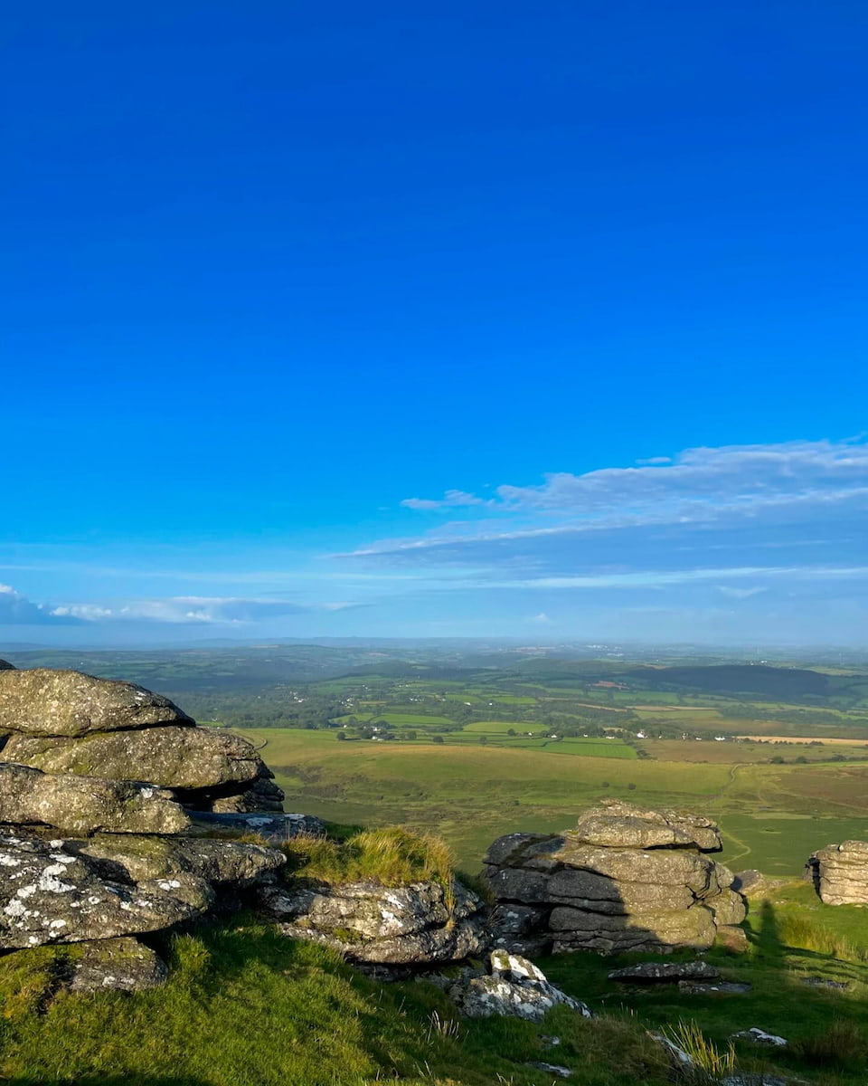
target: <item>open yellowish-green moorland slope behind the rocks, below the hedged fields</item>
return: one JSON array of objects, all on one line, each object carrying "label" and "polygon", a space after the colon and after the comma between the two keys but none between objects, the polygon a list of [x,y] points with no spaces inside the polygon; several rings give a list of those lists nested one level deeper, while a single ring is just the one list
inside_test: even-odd
[{"label": "open yellowish-green moorland slope behind the rocks, below the hedged fields", "polygon": [[868,763],[600,758],[595,747],[615,747],[607,741],[586,741],[584,757],[553,757],[549,749],[451,737],[444,744],[385,744],[335,743],[330,732],[286,729],[243,734],[266,744],[263,757],[286,792],[288,810],[436,832],[468,870],[478,869],[500,834],[562,830],[608,796],[713,816],[724,831],[722,859],[769,874],[797,875],[816,848],[868,836]]}]

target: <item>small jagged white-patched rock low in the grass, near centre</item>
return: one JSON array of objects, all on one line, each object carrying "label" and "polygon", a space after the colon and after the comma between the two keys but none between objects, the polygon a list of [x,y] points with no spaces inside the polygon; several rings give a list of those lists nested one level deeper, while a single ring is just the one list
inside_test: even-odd
[{"label": "small jagged white-patched rock low in the grass, near centre", "polygon": [[486,975],[461,980],[447,990],[468,1018],[509,1015],[538,1022],[552,1007],[570,1007],[584,1018],[591,1016],[585,1003],[550,984],[533,962],[505,950],[492,954]]}]

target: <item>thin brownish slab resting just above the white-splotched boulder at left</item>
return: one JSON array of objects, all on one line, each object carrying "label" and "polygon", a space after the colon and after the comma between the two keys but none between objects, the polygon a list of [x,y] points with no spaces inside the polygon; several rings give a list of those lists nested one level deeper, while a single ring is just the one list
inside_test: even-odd
[{"label": "thin brownish slab resting just above the white-splotched boulder at left", "polygon": [[209,837],[156,837],[100,833],[66,841],[64,850],[86,859],[102,877],[137,883],[194,875],[215,889],[245,889],[269,882],[286,862],[275,848]]}]

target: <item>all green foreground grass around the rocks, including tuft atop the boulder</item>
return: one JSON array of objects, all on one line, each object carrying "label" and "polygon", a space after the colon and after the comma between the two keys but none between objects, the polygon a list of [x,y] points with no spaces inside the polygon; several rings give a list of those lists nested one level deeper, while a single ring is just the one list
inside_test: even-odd
[{"label": "all green foreground grass around the rocks, including tuft atop the boulder", "polygon": [[[416,876],[420,858],[407,853],[399,835],[353,839],[329,855],[303,849],[299,874],[343,877],[359,862],[380,870],[376,853],[391,875]],[[444,855],[422,861],[439,869]],[[21,951],[0,958],[0,1081],[551,1086],[551,1073],[532,1065],[547,1061],[566,1066],[578,1086],[664,1086],[672,1072],[648,1028],[673,1036],[687,1031],[706,1055],[726,1056],[732,1033],[757,1025],[787,1037],[790,1048],[764,1051],[737,1041],[733,1070],[796,1075],[816,1086],[863,1086],[868,913],[822,906],[808,886],[794,884],[752,902],[745,926],[746,952],[715,948],[705,955],[726,980],[751,986],[744,995],[688,996],[676,986],[630,990],[607,974],[642,956],[564,955],[540,964],[596,1016],[588,1021],[557,1008],[541,1023],[462,1019],[425,981],[378,984],[334,952],[288,939],[250,914],[154,937],[171,974],[163,987],[136,995],[64,992],[59,980],[75,947]],[[560,1038],[557,1051],[547,1047],[551,1036]]]}]

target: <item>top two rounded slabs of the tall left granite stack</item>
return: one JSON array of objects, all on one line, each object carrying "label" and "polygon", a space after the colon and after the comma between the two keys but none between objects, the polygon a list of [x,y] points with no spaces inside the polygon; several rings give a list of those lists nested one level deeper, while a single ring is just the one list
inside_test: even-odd
[{"label": "top two rounded slabs of the tall left granite stack", "polygon": [[132,683],[47,668],[4,670],[0,736],[4,762],[58,776],[146,781],[191,810],[282,810],[283,793],[253,744],[196,727],[168,698]]}]

